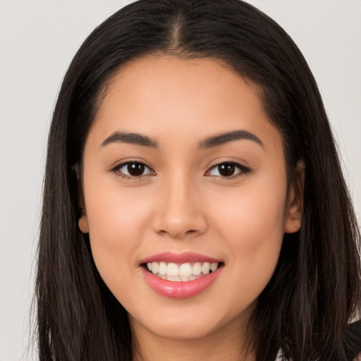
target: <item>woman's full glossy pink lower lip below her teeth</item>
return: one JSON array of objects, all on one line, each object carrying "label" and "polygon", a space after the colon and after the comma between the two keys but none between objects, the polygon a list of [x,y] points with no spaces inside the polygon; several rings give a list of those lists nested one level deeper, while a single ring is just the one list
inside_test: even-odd
[{"label": "woman's full glossy pink lower lip below her teeth", "polygon": [[206,274],[199,279],[192,281],[167,281],[160,279],[154,274],[142,267],[142,272],[145,276],[145,281],[153,288],[159,295],[169,298],[190,298],[202,293],[216,280],[221,273],[224,265],[221,265],[216,271]]}]

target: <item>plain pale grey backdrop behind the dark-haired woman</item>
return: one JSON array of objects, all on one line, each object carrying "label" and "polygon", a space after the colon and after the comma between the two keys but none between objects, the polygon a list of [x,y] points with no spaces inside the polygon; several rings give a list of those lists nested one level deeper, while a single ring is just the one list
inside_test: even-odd
[{"label": "plain pale grey backdrop behind the dark-haired woman", "polygon": [[[115,0],[0,0],[0,361],[27,353],[47,132],[82,40]],[[305,55],[361,214],[361,1],[250,0]]]}]

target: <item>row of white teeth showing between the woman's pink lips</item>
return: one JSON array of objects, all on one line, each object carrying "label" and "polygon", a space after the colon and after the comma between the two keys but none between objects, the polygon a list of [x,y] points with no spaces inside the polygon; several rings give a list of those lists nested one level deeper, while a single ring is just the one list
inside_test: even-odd
[{"label": "row of white teeth showing between the woman's pink lips", "polygon": [[159,277],[159,279],[173,282],[187,282],[211,274],[221,267],[222,264],[222,262],[186,262],[182,264],[173,262],[148,262],[147,264],[142,264],[142,266],[154,274],[154,276]]}]

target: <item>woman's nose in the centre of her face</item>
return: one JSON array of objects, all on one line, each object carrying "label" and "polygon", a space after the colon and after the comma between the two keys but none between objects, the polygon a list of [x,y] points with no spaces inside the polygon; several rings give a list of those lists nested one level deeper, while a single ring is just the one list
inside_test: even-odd
[{"label": "woman's nose in the centre of her face", "polygon": [[200,192],[185,176],[164,180],[159,185],[153,230],[175,239],[193,238],[207,230]]}]

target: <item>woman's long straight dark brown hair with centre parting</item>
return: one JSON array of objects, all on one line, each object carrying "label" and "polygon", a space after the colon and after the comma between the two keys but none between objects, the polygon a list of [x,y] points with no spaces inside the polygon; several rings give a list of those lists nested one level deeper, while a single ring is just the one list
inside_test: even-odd
[{"label": "woman's long straight dark brown hair with centre parting", "polygon": [[316,82],[286,32],[238,0],[140,0],[87,37],[63,80],[49,134],[39,261],[40,360],[131,360],[126,310],[80,233],[82,149],[102,90],[127,61],[161,52],[213,57],[262,89],[283,136],[288,179],[305,162],[298,233],[286,234],[253,317],[257,361],[350,361],[361,351],[360,233]]}]

